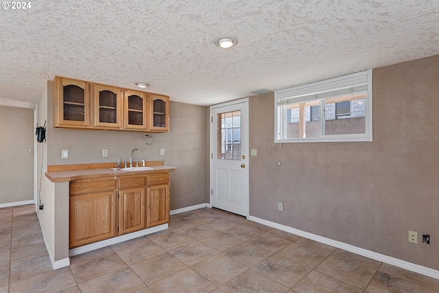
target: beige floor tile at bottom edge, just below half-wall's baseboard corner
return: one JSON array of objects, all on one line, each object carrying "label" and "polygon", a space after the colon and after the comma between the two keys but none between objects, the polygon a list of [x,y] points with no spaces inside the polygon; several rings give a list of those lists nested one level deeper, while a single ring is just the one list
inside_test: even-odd
[{"label": "beige floor tile at bottom edge, just below half-wall's baseboard corner", "polygon": [[70,268],[60,268],[45,274],[10,284],[10,293],[19,292],[60,292],[76,285]]}]

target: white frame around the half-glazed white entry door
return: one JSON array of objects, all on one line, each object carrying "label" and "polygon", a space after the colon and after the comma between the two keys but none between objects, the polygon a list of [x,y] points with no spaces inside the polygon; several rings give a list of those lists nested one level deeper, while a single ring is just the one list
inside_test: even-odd
[{"label": "white frame around the half-glazed white entry door", "polygon": [[[250,215],[250,195],[249,195],[249,190],[250,190],[250,174],[249,174],[249,167],[250,167],[250,160],[249,160],[249,155],[250,155],[250,137],[249,137],[249,130],[250,130],[250,126],[249,126],[249,99],[248,97],[244,98],[244,99],[237,99],[235,101],[231,101],[231,102],[226,102],[226,103],[222,103],[222,104],[217,104],[217,105],[213,105],[210,108],[210,121],[209,121],[209,130],[210,130],[210,152],[209,152],[209,162],[210,162],[210,190],[209,190],[209,194],[210,194],[210,206],[213,207],[212,204],[212,198],[214,196],[214,192],[215,192],[215,187],[214,187],[214,182],[213,182],[213,156],[215,156],[217,149],[216,149],[216,135],[217,135],[217,130],[214,127],[213,124],[213,109],[217,109],[217,108],[223,108],[226,106],[233,106],[236,104],[245,104],[245,108],[246,108],[246,112],[247,112],[247,119],[246,121],[244,121],[245,124],[247,124],[247,127],[244,128],[244,131],[241,129],[241,140],[242,139],[246,139],[246,145],[247,145],[247,150],[243,150],[244,152],[241,152],[241,155],[244,154],[246,156],[245,161],[242,161],[242,163],[246,164],[246,169],[247,169],[247,178],[246,178],[246,182],[244,182],[243,184],[247,185],[247,188],[245,188],[244,190],[246,190],[246,194],[244,194],[244,201],[243,205],[244,205],[244,216],[248,217]],[[241,121],[241,125],[242,125],[242,121]]]}]

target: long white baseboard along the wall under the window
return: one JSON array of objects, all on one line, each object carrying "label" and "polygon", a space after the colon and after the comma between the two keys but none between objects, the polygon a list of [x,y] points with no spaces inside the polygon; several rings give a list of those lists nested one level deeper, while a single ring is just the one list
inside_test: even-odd
[{"label": "long white baseboard along the wall under the window", "polygon": [[419,266],[416,263],[410,263],[408,261],[403,261],[402,259],[396,259],[394,257],[389,257],[388,255],[381,255],[381,253],[375,253],[373,251],[370,250],[366,250],[364,248],[359,248],[357,246],[353,246],[351,244],[346,244],[343,242],[339,242],[339,241],[335,241],[333,239],[329,239],[327,237],[322,237],[319,235],[315,235],[315,234],[311,234],[305,231],[301,231],[298,230],[296,228],[292,228],[289,226],[285,226],[283,224],[278,224],[275,222],[270,222],[268,220],[263,220],[260,218],[256,218],[253,217],[252,215],[247,217],[248,220],[253,221],[253,222],[257,222],[259,224],[263,224],[265,226],[270,226],[272,228],[276,228],[288,233],[292,233],[301,237],[305,237],[307,239],[311,239],[323,244],[327,244],[330,246],[334,246],[346,251],[349,251],[351,253],[355,253],[357,255],[362,255],[364,257],[368,257],[370,259],[375,259],[377,261],[381,261],[383,263],[388,263],[392,266],[397,266],[399,268],[403,268],[405,270],[410,270],[412,272],[417,272],[419,274],[424,274],[425,276],[434,278],[434,279],[439,279],[439,270],[434,270],[432,268],[427,268],[425,266]]}]

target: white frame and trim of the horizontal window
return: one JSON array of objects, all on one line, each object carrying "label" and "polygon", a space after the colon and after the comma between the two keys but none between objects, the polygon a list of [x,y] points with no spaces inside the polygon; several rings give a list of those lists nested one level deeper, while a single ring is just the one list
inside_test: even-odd
[{"label": "white frame and trim of the horizontal window", "polygon": [[[323,135],[322,137],[310,138],[294,138],[283,139],[283,126],[286,125],[286,115],[282,113],[281,100],[294,96],[294,102],[305,102],[304,96],[318,94],[320,92],[329,91],[339,86],[343,86],[346,80],[361,78],[367,76],[367,91],[366,91],[366,132],[364,134],[340,134],[340,135]],[[320,117],[323,117],[323,109],[320,107]],[[320,119],[320,128],[322,128],[323,120]],[[274,143],[311,143],[311,142],[338,142],[338,141],[373,141],[372,137],[372,69],[361,71],[348,75],[343,75],[329,80],[322,80],[319,82],[312,82],[310,84],[303,84],[300,86],[292,86],[286,89],[280,89],[274,92]]]}]

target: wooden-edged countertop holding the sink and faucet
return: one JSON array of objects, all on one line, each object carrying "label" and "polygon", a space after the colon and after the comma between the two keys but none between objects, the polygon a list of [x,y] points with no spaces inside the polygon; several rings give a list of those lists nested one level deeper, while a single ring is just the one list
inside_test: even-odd
[{"label": "wooden-edged countertop holding the sink and faucet", "polygon": [[142,171],[122,171],[122,170],[112,170],[108,169],[89,169],[89,170],[78,170],[78,171],[59,171],[59,172],[46,172],[45,175],[51,182],[65,182],[73,181],[79,179],[87,178],[98,178],[98,177],[111,177],[111,176],[126,176],[134,174],[150,174],[157,172],[172,172],[177,167],[159,165],[152,167],[150,170]]}]

